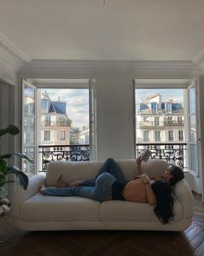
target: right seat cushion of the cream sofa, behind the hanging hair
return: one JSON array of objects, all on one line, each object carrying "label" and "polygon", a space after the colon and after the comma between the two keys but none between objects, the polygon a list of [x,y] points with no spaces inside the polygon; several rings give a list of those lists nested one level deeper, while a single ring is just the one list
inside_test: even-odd
[{"label": "right seat cushion of the cream sofa, behind the hanging hair", "polygon": [[[100,219],[107,221],[159,221],[153,213],[153,209],[154,206],[150,206],[150,204],[109,200],[101,204]],[[174,221],[182,220],[183,208],[178,200],[175,201],[174,209]]]}]

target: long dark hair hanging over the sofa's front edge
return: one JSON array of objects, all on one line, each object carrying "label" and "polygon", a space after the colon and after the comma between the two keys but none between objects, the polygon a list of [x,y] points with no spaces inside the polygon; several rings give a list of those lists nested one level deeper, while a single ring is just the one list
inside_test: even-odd
[{"label": "long dark hair hanging over the sofa's front edge", "polygon": [[154,213],[163,224],[167,224],[174,220],[174,197],[171,187],[166,181],[155,181],[151,187],[156,195]]}]

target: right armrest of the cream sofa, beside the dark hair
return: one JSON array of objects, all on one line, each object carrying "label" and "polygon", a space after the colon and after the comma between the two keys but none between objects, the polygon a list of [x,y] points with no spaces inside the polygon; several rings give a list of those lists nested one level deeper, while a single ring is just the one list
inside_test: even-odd
[{"label": "right armrest of the cream sofa, beside the dark hair", "polygon": [[183,179],[182,181],[177,182],[173,187],[173,194],[182,204],[184,211],[183,217],[185,219],[192,218],[194,215],[194,197],[187,181]]}]

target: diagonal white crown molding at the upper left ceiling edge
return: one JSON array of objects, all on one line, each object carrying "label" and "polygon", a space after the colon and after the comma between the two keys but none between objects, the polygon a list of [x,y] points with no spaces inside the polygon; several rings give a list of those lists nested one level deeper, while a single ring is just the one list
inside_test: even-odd
[{"label": "diagonal white crown molding at the upper left ceiling edge", "polygon": [[9,62],[16,69],[21,69],[24,62],[30,62],[29,56],[26,56],[20,49],[11,43],[10,40],[0,33],[0,58]]}]

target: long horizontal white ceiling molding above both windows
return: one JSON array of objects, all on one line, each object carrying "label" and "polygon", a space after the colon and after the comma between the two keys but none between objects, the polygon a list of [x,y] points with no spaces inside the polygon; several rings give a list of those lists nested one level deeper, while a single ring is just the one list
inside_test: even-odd
[{"label": "long horizontal white ceiling molding above both windows", "polygon": [[[32,60],[25,63],[19,75],[32,77],[69,77],[69,75],[130,74],[137,78],[192,78],[203,74],[191,61],[94,61],[94,60]],[[32,76],[33,75],[33,76]]]}]

